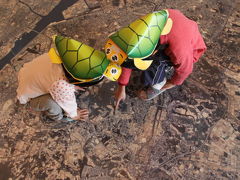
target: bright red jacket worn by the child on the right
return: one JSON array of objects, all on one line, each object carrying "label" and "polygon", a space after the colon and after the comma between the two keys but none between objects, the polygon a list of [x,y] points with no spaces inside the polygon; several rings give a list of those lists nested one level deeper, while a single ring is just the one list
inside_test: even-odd
[{"label": "bright red jacket worn by the child on the right", "polygon": [[[192,73],[193,64],[206,50],[206,45],[196,22],[188,19],[180,11],[168,9],[173,26],[169,34],[160,36],[160,44],[168,44],[165,49],[174,64],[174,75],[170,82],[180,85]],[[127,85],[131,69],[123,68],[118,79],[120,85]]]}]

